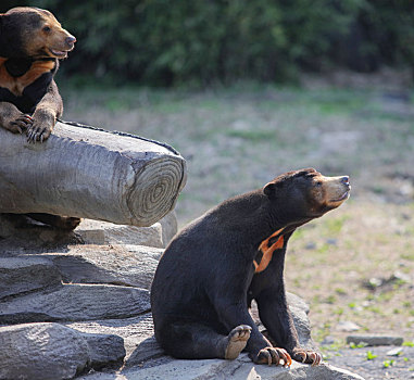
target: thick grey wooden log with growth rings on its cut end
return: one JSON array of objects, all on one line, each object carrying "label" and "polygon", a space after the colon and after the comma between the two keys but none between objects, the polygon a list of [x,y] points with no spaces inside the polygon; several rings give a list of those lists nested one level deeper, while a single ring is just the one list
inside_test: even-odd
[{"label": "thick grey wooden log with growth rings on its cut end", "polygon": [[137,136],[58,123],[43,143],[0,128],[0,213],[150,226],[175,206],[186,162]]}]

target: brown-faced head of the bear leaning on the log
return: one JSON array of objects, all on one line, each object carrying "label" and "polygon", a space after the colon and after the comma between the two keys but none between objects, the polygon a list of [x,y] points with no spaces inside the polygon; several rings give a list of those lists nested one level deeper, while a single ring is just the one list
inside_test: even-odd
[{"label": "brown-faced head of the bear leaning on the log", "polygon": [[17,7],[0,14],[0,56],[64,59],[75,42],[49,11]]}]

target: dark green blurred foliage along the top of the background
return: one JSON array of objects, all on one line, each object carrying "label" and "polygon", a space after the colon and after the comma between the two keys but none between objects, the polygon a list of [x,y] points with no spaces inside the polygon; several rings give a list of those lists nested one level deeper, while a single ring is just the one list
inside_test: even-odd
[{"label": "dark green blurred foliage along the top of the background", "polygon": [[[62,69],[151,86],[286,80],[341,64],[414,61],[411,0],[22,0],[78,42]],[[4,0],[0,11],[13,7]],[[372,63],[374,62],[374,63]],[[81,81],[81,80],[79,80]],[[329,112],[329,109],[327,110]]]}]

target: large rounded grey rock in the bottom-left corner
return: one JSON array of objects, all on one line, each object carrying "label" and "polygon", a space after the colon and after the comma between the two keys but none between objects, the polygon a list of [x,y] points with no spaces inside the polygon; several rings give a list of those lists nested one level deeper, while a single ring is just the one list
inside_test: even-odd
[{"label": "large rounded grey rock in the bottom-left corner", "polygon": [[81,334],[58,324],[0,327],[0,379],[72,379],[89,366]]}]

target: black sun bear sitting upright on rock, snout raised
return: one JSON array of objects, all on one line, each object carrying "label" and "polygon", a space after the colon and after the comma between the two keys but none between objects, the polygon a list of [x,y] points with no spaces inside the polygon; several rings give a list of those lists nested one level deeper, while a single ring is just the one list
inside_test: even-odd
[{"label": "black sun bear sitting upright on rock, snout raised", "polygon": [[[303,350],[286,302],[284,264],[294,230],[349,197],[348,176],[289,172],[231,198],[185,227],[168,244],[151,286],[155,338],[177,358],[317,365]],[[273,346],[249,314],[255,300]]]}]

